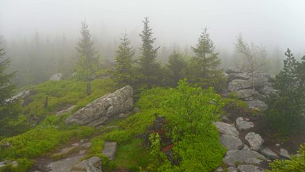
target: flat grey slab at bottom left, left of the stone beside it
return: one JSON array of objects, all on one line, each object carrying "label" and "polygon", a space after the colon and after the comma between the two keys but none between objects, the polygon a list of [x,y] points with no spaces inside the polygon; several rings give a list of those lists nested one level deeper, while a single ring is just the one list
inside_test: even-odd
[{"label": "flat grey slab at bottom left, left of the stone beside it", "polygon": [[51,162],[47,168],[51,172],[71,171],[72,167],[82,159],[83,155]]}]

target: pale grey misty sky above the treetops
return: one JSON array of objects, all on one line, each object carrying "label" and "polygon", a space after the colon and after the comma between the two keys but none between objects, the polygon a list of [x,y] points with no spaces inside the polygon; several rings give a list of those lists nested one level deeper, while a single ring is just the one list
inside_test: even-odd
[{"label": "pale grey misty sky above the treetops", "polygon": [[[304,0],[0,0],[0,35],[79,37],[86,19],[94,37],[138,35],[150,17],[158,44],[192,45],[207,26],[220,49],[232,49],[234,37],[264,46],[305,52]],[[134,40],[135,42],[139,40]]]}]

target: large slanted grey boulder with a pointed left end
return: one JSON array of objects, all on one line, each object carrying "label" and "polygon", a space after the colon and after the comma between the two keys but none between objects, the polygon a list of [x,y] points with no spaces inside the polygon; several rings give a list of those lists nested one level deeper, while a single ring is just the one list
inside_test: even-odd
[{"label": "large slanted grey boulder with a pointed left end", "polygon": [[96,99],[67,118],[67,124],[101,126],[122,112],[132,110],[133,89],[130,85]]}]

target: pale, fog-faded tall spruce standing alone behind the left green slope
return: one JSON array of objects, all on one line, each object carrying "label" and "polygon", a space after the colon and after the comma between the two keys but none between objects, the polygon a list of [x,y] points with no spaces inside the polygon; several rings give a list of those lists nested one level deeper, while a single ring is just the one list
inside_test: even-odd
[{"label": "pale, fog-faded tall spruce standing alone behind the left green slope", "polygon": [[75,78],[79,80],[88,80],[94,71],[98,68],[98,56],[94,49],[94,42],[91,39],[88,25],[82,22],[80,29],[82,37],[78,41],[76,50],[78,51],[79,58],[75,68]]}]

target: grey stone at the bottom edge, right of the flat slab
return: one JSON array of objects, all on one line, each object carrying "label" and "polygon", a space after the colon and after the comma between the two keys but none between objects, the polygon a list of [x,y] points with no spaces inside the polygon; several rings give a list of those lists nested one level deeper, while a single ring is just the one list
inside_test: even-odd
[{"label": "grey stone at the bottom edge, right of the flat slab", "polygon": [[90,157],[87,160],[83,160],[82,162],[76,164],[73,166],[74,171],[92,171],[92,172],[97,172],[97,171],[102,171],[101,170],[101,164],[102,160],[100,157]]}]

